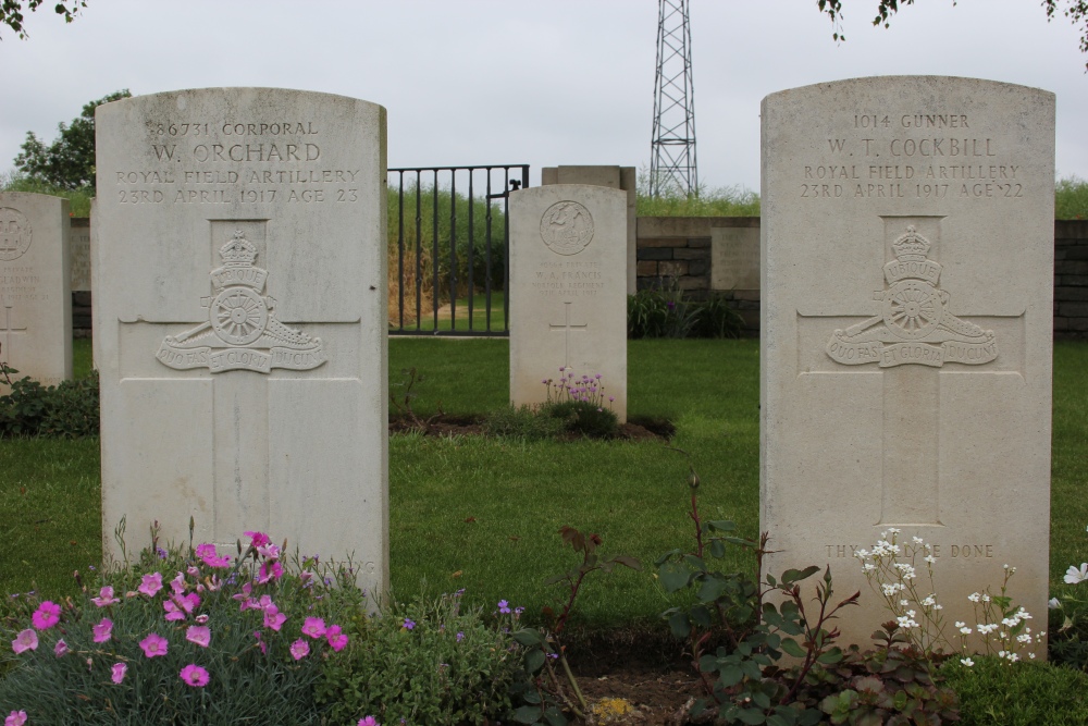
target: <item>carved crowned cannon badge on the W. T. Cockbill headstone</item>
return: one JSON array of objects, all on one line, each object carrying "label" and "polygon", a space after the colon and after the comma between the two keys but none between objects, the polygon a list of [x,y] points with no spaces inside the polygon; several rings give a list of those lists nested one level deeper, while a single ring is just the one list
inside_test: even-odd
[{"label": "carved crowned cannon badge on the W. T. Cockbill headstone", "polygon": [[895,260],[885,266],[888,286],[874,298],[879,316],[836,330],[827,355],[844,366],[906,364],[980,366],[998,357],[992,330],[982,330],[948,309],[949,293],[938,287],[941,266],[926,257],[932,246],[910,225],[892,244]]}]

